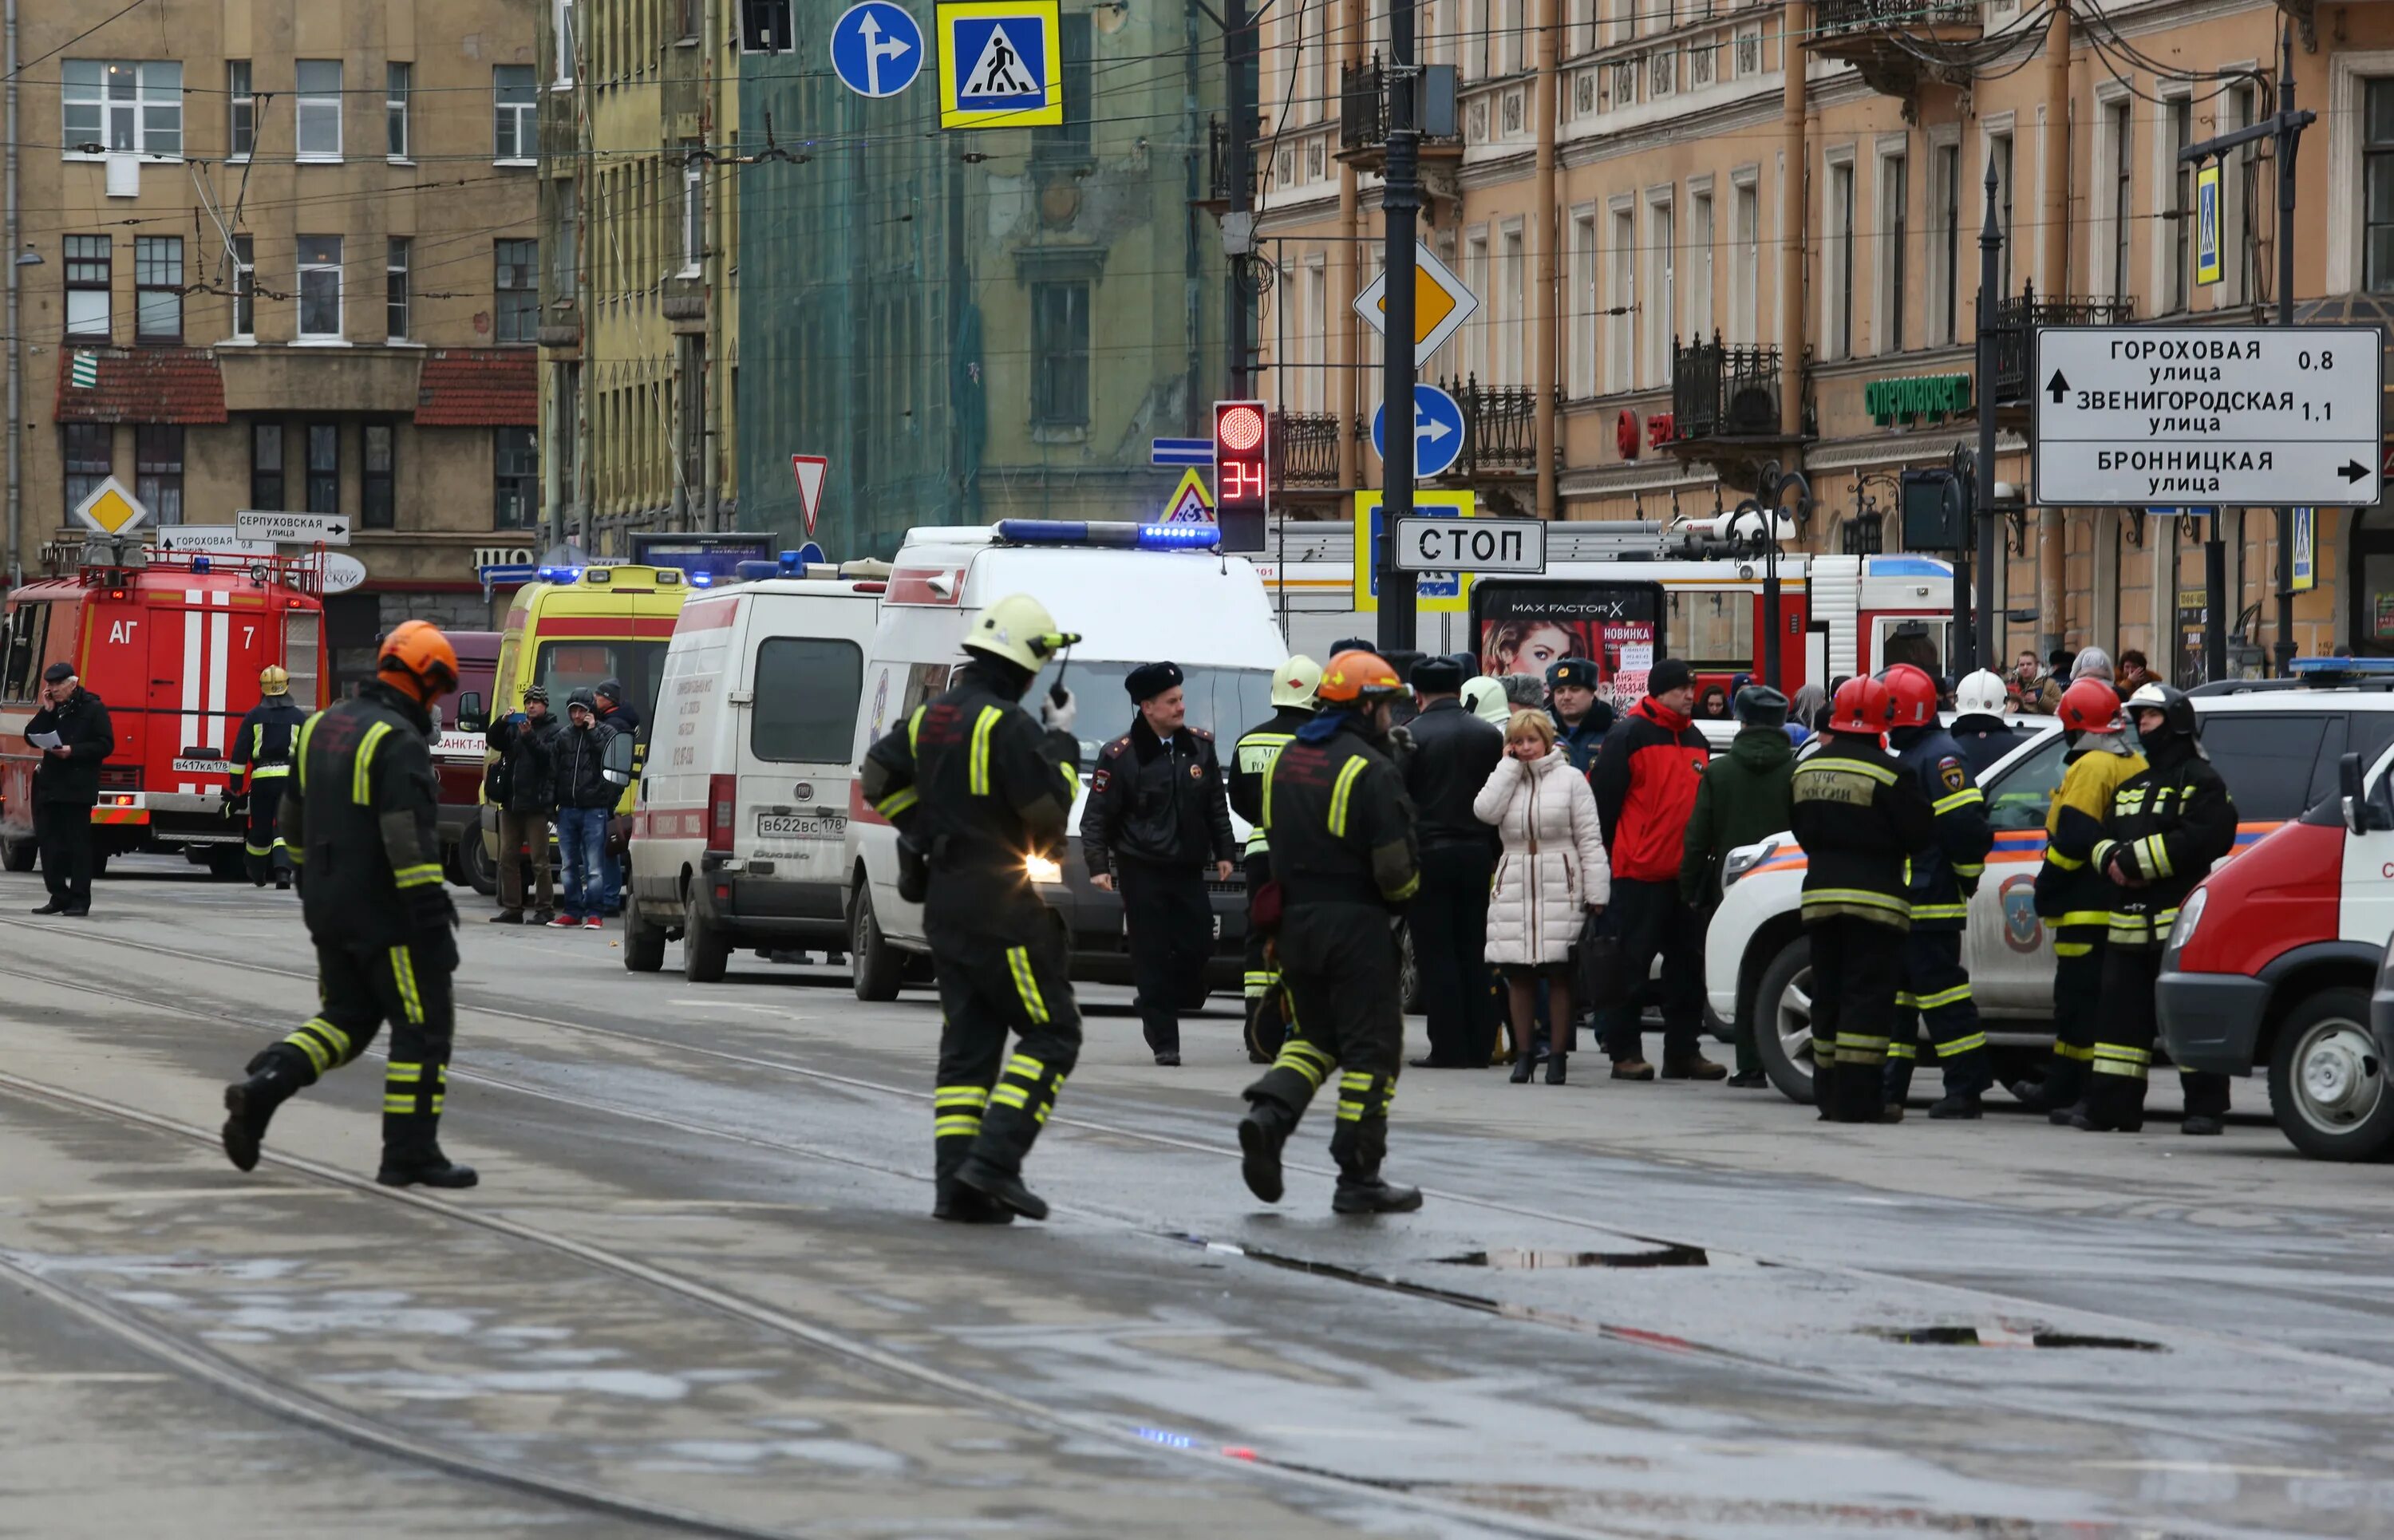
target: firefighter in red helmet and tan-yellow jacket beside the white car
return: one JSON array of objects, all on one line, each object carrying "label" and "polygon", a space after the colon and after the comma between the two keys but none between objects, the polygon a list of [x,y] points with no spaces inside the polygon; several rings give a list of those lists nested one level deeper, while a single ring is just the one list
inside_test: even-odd
[{"label": "firefighter in red helmet and tan-yellow jacket beside the white car", "polygon": [[2044,1083],[2011,1087],[2054,1123],[2068,1123],[2085,1099],[2095,1059],[2095,1013],[2102,999],[2104,939],[2119,891],[2095,865],[2095,841],[2121,781],[2145,774],[2145,757],[2128,742],[2119,695],[2102,680],[2078,680],[2061,692],[2061,790],[2044,814],[2044,860],[2037,865],[2037,917],[2054,932],[2054,1059]]}]

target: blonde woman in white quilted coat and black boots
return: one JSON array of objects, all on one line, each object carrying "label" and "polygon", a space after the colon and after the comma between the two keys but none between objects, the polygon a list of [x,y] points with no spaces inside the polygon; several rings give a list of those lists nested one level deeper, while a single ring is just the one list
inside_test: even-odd
[{"label": "blonde woman in white quilted coat and black boots", "polygon": [[1513,1080],[1537,1059],[1537,987],[1547,984],[1547,1085],[1563,1085],[1570,1044],[1570,953],[1580,924],[1604,913],[1614,874],[1587,776],[1554,747],[1554,719],[1515,711],[1503,759],[1479,788],[1472,812],[1503,841],[1489,893],[1487,960],[1503,972],[1513,1006]]}]

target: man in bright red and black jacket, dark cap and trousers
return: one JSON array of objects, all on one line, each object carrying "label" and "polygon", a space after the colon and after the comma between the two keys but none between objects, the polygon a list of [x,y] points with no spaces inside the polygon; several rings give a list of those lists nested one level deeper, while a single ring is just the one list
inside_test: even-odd
[{"label": "man in bright red and black jacket, dark cap and trousers", "polygon": [[[1664,1080],[1719,1080],[1728,1071],[1705,1059],[1695,1035],[1705,1025],[1705,932],[1681,896],[1678,862],[1688,843],[1695,788],[1712,750],[1695,730],[1695,675],[1681,659],[1661,659],[1647,675],[1642,702],[1604,735],[1587,783],[1597,793],[1604,848],[1614,867],[1606,924],[1621,941],[1621,968],[1645,980],[1661,953],[1661,1073]],[[1597,1032],[1614,1061],[1614,1080],[1652,1080],[1640,1025],[1642,996],[1597,1013]]]}]

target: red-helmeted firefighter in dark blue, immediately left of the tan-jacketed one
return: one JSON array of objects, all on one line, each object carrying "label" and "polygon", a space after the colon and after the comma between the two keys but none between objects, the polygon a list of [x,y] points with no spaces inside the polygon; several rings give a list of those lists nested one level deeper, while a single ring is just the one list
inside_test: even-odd
[{"label": "red-helmeted firefighter in dark blue, immediately left of the tan-jacketed one", "polygon": [[1987,1035],[1977,1027],[1977,1001],[1970,999],[1970,970],[1961,963],[1961,936],[1970,929],[1970,898],[1987,874],[1994,826],[1970,762],[1937,723],[1937,680],[1913,663],[1896,663],[1882,678],[1896,697],[1896,726],[1886,745],[1937,814],[1937,838],[1913,855],[1913,929],[1903,936],[1898,1020],[1886,1044],[1886,1116],[1903,1118],[1925,1025],[1944,1068],[1944,1097],[1930,1107],[1930,1116],[1975,1118],[1980,1097],[1994,1085],[1994,1068]]}]

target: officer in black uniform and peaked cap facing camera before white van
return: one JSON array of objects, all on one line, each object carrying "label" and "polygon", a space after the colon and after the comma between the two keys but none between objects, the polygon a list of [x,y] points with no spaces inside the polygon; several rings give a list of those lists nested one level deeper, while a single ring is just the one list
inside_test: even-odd
[{"label": "officer in black uniform and peaked cap facing camera before white van", "polygon": [[1187,726],[1178,663],[1140,663],[1123,678],[1137,721],[1096,752],[1080,850],[1089,881],[1123,893],[1140,1030],[1156,1063],[1180,1063],[1180,1008],[1204,999],[1214,958],[1207,867],[1231,881],[1231,800],[1214,735]]}]

